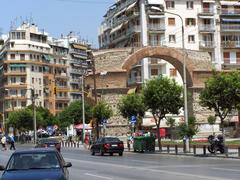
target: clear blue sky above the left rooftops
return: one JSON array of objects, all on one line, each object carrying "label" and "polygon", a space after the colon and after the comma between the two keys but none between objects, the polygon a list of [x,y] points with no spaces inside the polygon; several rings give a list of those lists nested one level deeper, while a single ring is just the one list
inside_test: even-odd
[{"label": "clear blue sky above the left rooftops", "polygon": [[30,19],[53,37],[78,32],[98,47],[97,32],[109,6],[115,0],[0,0],[0,29],[10,30],[11,22],[19,25]]}]

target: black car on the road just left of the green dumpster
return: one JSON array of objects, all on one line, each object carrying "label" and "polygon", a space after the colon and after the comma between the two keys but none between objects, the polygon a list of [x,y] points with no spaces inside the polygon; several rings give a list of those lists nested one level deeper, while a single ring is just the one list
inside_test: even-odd
[{"label": "black car on the road just left of the green dumpster", "polygon": [[102,137],[99,138],[92,146],[91,146],[91,154],[95,155],[95,153],[100,153],[101,156],[104,153],[109,153],[111,156],[113,153],[118,153],[119,156],[123,155],[124,145],[123,141],[116,137]]}]

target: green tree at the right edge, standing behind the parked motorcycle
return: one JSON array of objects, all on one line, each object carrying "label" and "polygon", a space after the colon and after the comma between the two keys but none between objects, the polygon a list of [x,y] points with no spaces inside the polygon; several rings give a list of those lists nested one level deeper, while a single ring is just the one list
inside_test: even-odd
[{"label": "green tree at the right edge, standing behind the parked motorcycle", "polygon": [[213,72],[200,93],[200,104],[213,110],[215,116],[220,118],[222,133],[224,119],[239,105],[239,82],[239,72]]}]

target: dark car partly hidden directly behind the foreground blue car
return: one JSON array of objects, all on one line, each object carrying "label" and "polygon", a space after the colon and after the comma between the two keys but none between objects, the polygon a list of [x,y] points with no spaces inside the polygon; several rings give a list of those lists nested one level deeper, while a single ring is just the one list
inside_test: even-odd
[{"label": "dark car partly hidden directly behind the foreground blue car", "polygon": [[59,152],[61,151],[61,143],[57,138],[42,138],[39,139],[35,148],[56,148]]}]

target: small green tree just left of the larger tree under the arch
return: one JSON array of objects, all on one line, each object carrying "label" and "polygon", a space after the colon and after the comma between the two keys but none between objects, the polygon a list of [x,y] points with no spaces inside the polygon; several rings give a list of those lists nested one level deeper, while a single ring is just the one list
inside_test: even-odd
[{"label": "small green tree just left of the larger tree under the arch", "polygon": [[128,94],[123,96],[118,103],[118,109],[124,118],[130,119],[132,116],[137,117],[137,124],[141,124],[141,119],[145,113],[142,94]]}]

